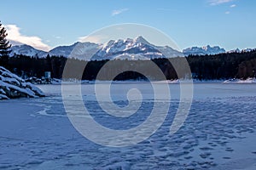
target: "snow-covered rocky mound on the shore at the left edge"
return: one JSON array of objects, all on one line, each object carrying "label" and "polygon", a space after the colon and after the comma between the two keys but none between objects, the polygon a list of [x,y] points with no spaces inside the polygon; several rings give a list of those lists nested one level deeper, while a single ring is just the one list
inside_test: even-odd
[{"label": "snow-covered rocky mound on the shore at the left edge", "polygon": [[0,66],[0,99],[43,97],[44,93]]}]

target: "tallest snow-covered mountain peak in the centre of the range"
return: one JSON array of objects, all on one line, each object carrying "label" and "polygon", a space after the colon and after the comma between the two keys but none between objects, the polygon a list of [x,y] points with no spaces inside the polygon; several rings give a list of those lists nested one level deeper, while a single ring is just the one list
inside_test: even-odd
[{"label": "tallest snow-covered mountain peak in the centre of the range", "polygon": [[143,37],[135,39],[119,39],[109,41],[105,47],[99,50],[92,59],[157,59],[183,56],[181,52],[166,47],[158,47],[149,43]]}]

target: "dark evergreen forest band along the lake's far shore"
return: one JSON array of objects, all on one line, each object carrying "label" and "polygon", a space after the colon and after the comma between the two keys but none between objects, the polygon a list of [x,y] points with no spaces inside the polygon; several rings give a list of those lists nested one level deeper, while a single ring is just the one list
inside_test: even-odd
[{"label": "dark evergreen forest band along the lake's far shore", "polygon": [[[165,75],[166,79],[177,79],[177,73],[172,63],[179,62],[182,57],[171,59],[152,59],[152,60],[93,60],[84,61],[79,59],[67,59],[63,56],[47,56],[38,58],[37,56],[15,55],[9,58],[0,58],[0,65],[4,63],[10,71],[13,71],[20,77],[44,77],[44,71],[50,71],[52,78],[62,78],[62,73],[66,62],[73,63],[74,67],[80,65],[84,68],[84,74],[79,76],[76,73],[70,74],[66,78],[78,78],[83,80],[95,80],[103,65],[105,76],[102,80],[111,79],[108,75],[116,75],[114,80],[142,80],[147,79],[143,74],[133,70],[133,68],[143,68],[148,71],[148,75],[155,79],[162,78],[156,76],[150,68],[150,62],[154,62]],[[244,53],[215,54],[215,55],[189,55],[186,57],[191,69],[192,77],[199,80],[220,80],[220,79],[247,79],[255,77],[256,74],[256,50]],[[112,65],[112,66],[111,66]],[[118,65],[118,66],[117,66]],[[73,68],[74,71],[76,68]],[[150,72],[151,71],[151,72]],[[185,74],[183,75],[185,77]]]}]

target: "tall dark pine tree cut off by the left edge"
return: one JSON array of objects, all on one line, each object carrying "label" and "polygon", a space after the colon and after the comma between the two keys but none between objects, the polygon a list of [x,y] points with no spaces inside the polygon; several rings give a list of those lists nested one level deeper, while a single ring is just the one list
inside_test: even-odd
[{"label": "tall dark pine tree cut off by the left edge", "polygon": [[11,52],[9,50],[11,45],[6,39],[7,35],[6,29],[2,26],[0,21],[0,65],[4,67],[8,67],[9,53]]}]

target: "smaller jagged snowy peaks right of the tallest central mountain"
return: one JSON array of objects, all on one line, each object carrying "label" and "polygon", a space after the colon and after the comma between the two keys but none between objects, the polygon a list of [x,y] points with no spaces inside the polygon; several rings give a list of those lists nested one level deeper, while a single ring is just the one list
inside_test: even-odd
[{"label": "smaller jagged snowy peaks right of the tallest central mountain", "polygon": [[220,48],[218,46],[214,46],[211,47],[209,45],[205,46],[205,47],[192,47],[192,48],[185,48],[183,49],[183,54],[185,56],[188,55],[206,55],[206,54],[222,54],[225,53],[225,49],[224,48]]}]

